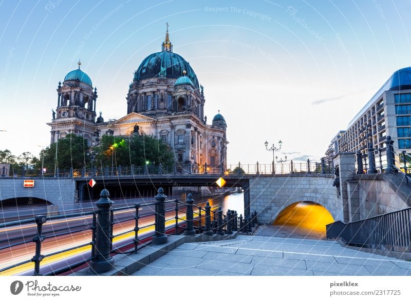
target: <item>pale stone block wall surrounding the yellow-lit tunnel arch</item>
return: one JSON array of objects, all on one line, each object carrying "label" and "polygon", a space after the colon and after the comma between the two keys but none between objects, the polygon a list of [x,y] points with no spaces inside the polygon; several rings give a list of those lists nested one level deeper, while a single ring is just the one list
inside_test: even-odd
[{"label": "pale stone block wall surrounding the yellow-lit tunnel arch", "polygon": [[250,178],[250,211],[258,222],[272,224],[287,206],[310,201],[325,207],[334,220],[343,220],[343,206],[329,174],[291,174]]}]

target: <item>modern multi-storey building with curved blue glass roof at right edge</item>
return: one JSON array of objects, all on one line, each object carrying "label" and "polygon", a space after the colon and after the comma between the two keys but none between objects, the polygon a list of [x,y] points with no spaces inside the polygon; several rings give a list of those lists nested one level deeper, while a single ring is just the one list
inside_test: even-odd
[{"label": "modern multi-storey building with curved blue glass roof at right edge", "polygon": [[347,130],[332,139],[326,155],[365,152],[367,144],[384,148],[388,135],[395,147],[411,152],[411,67],[397,70],[388,78],[352,118]]}]

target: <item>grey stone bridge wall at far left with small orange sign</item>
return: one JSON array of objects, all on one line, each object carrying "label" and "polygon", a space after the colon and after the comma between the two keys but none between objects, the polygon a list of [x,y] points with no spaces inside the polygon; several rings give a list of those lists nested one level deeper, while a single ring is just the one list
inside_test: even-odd
[{"label": "grey stone bridge wall at far left with small orange sign", "polygon": [[[34,179],[34,187],[23,187],[25,179]],[[53,205],[72,205],[77,200],[76,185],[69,178],[0,178],[0,201],[15,197],[37,197]]]}]

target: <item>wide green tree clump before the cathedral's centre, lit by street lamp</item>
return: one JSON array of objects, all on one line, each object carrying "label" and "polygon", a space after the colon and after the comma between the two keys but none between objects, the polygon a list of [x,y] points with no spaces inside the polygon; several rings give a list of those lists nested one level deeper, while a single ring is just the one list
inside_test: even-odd
[{"label": "wide green tree clump before the cathedral's centre, lit by street lamp", "polygon": [[153,165],[174,164],[174,153],[170,147],[149,135],[103,135],[93,151],[98,166],[143,166],[147,162]]}]

